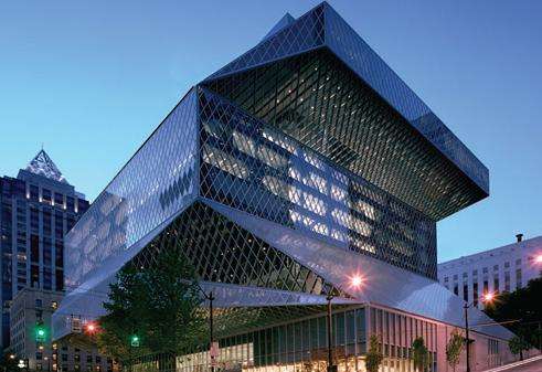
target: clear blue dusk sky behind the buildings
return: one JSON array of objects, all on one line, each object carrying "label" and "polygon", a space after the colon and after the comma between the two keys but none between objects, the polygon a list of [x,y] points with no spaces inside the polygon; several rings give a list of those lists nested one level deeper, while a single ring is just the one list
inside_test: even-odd
[{"label": "clear blue dusk sky behind the buildings", "polygon": [[[0,176],[42,144],[94,200],[185,92],[318,1],[0,2]],[[542,1],[329,1],[489,168],[439,262],[542,234]]]}]

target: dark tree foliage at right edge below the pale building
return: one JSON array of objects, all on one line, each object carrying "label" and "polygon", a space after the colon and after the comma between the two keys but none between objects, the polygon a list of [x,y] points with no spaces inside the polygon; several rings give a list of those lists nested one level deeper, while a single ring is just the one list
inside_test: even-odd
[{"label": "dark tree foliage at right edge below the pale building", "polygon": [[541,325],[542,277],[532,279],[527,287],[512,293],[502,293],[486,306],[486,313],[496,321],[518,320],[504,323],[504,327],[533,347],[540,348],[542,341]]}]

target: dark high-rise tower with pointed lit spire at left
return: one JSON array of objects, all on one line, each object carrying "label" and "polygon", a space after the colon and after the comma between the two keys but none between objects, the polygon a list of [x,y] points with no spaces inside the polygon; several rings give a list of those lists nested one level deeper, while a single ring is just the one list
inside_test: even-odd
[{"label": "dark high-rise tower with pointed lit spire at left", "polygon": [[17,178],[0,178],[2,349],[10,346],[9,311],[18,291],[64,290],[64,235],[87,209],[43,149]]}]

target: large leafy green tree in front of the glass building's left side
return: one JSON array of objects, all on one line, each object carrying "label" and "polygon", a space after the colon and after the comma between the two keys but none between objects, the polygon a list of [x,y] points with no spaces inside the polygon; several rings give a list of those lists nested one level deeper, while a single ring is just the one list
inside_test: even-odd
[{"label": "large leafy green tree in front of the glass building's left side", "polygon": [[[119,360],[149,353],[174,355],[205,337],[196,275],[182,251],[169,247],[148,267],[125,266],[111,284],[97,343]],[[132,347],[134,336],[139,347]]]}]

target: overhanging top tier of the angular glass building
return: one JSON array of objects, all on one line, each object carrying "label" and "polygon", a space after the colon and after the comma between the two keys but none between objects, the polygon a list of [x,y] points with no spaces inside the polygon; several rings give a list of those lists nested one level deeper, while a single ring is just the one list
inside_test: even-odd
[{"label": "overhanging top tier of the angular glass building", "polygon": [[[346,92],[344,88],[342,92],[337,92],[337,94],[329,92],[328,88],[327,94],[323,91],[320,96],[317,96],[319,92],[312,95],[304,95],[304,86],[301,84],[304,83],[304,78],[306,81],[316,78],[313,77],[316,73],[311,76],[307,74],[302,75],[301,72],[304,68],[307,70],[311,60],[321,57],[321,53],[319,52],[318,55],[311,54],[310,59],[307,57],[309,62],[296,62],[299,66],[295,64],[284,65],[281,63],[300,55],[309,55],[310,53],[323,50],[329,52],[333,59],[340,61],[357,76],[360,84],[370,87],[374,92],[374,95],[385,103],[390,113],[385,113],[368,92],[364,92],[363,95],[371,96],[370,99],[363,103],[358,100],[354,104],[344,102],[351,98],[350,95],[348,99],[344,96],[337,100],[337,97]],[[273,65],[278,66],[279,64],[280,68],[278,68],[278,73],[284,73],[286,77],[281,75],[276,81],[284,77],[284,84],[279,85],[275,83],[274,91],[269,89],[263,83],[258,85],[258,82],[264,81],[272,74],[265,68]],[[319,65],[315,65],[316,70],[318,67]],[[249,75],[251,72],[255,73]],[[276,74],[277,72],[274,73]],[[348,76],[348,72],[341,71],[339,74],[336,72],[336,75],[339,75],[338,79],[340,84],[334,84],[333,88],[341,89],[340,85],[343,84],[340,82],[341,75]],[[293,83],[296,76],[300,81],[297,82],[297,85]],[[322,76],[319,76],[319,78],[322,78]],[[246,87],[248,84],[246,83],[247,79],[252,81],[251,87]],[[344,81],[348,79],[344,78]],[[435,220],[445,217],[489,194],[488,169],[326,2],[295,21],[291,21],[289,18],[285,21],[279,21],[272,32],[255,47],[209,76],[202,84],[233,99],[243,108],[251,111],[251,114],[264,120],[275,121],[269,124],[278,126],[301,142],[328,156],[338,164],[359,173],[374,184],[397,195],[412,206],[427,213],[427,215]],[[245,84],[245,87],[243,87],[243,84]],[[235,92],[232,92],[232,89],[235,89]],[[241,92],[242,89],[244,92]],[[251,89],[252,95],[247,94]],[[265,92],[265,89],[268,91]],[[287,110],[280,110],[279,106],[284,105],[283,100],[293,99],[287,94],[284,96],[277,95],[276,92],[280,89],[286,89],[295,94],[298,99],[305,102],[305,105],[308,105],[307,103],[309,100],[315,102],[311,108],[316,106],[317,110],[322,106],[323,100],[327,99],[329,104],[321,110],[321,123],[315,125],[312,118],[313,113],[301,107],[300,104],[297,104],[296,107],[291,107],[290,105],[290,107],[287,107]],[[273,108],[274,115],[276,116],[273,118],[269,118],[270,114],[268,113],[264,113],[267,116],[263,117],[264,114],[256,110],[262,110],[262,107],[255,107],[257,105],[247,104],[246,102],[246,99],[251,98],[268,99],[269,97],[266,95],[269,95],[269,92],[275,94],[276,100],[276,108]],[[336,102],[331,102],[333,96],[336,96]],[[241,102],[242,99],[245,100]],[[268,99],[268,102],[269,104],[266,102],[266,105],[272,105],[272,100]],[[361,111],[359,107],[355,107],[355,104],[363,106],[362,108],[366,108],[365,116],[361,118],[354,117],[354,114],[358,115]],[[347,107],[343,108],[343,105],[347,105]],[[350,111],[343,113],[348,106],[351,107]],[[380,108],[375,111],[373,108],[378,106]],[[352,117],[347,120],[346,114]],[[295,132],[294,129],[288,131],[288,128],[285,128],[285,117],[286,120],[291,121],[291,126],[298,132]],[[363,126],[365,126],[364,123],[366,123],[368,117],[373,124],[372,134],[363,131]],[[357,120],[354,123],[355,125],[352,124],[352,119],[353,121]],[[305,121],[300,123],[302,120]],[[380,121],[383,124],[381,125]],[[294,123],[297,123],[298,126],[296,127]],[[312,132],[307,129],[311,126],[315,127]],[[341,126],[346,127],[347,130],[340,134],[326,135],[329,138],[319,140],[320,142],[333,144],[331,146],[332,150],[327,151],[323,148],[325,146],[313,138],[317,134],[327,132],[329,128],[336,129],[341,128]],[[368,142],[374,142],[374,140],[370,139],[370,135],[385,136],[389,138],[389,141],[387,144],[384,140],[380,141],[380,148],[366,151],[365,145]],[[405,136],[412,137],[413,139],[408,139],[408,142],[404,141]],[[416,140],[414,140],[415,137]],[[357,144],[360,146],[357,146]],[[386,146],[385,149],[382,147],[382,144]],[[341,152],[337,153],[339,150]],[[371,150],[374,153],[370,153]],[[416,150],[419,155],[406,159],[405,153],[414,153]],[[354,155],[365,159],[353,159]],[[366,160],[368,157],[372,157],[373,159]],[[432,158],[429,159],[431,161],[427,160],[427,157]],[[405,163],[407,167],[405,167]],[[415,171],[408,173],[411,171],[410,167]],[[374,168],[379,169],[378,172],[375,172]],[[404,170],[407,170],[407,172],[404,173]],[[389,171],[387,178],[382,176],[385,171]],[[402,172],[403,174],[401,174]],[[407,177],[408,174],[411,174],[411,180],[406,184],[401,178]],[[394,181],[391,181],[392,179]],[[438,190],[443,198],[447,198],[450,201],[450,204],[443,204],[440,212],[425,211],[419,205],[423,201],[416,201],[415,199],[424,199],[429,195],[424,195],[423,192],[418,192],[417,196],[408,195],[408,190],[413,189],[414,192],[422,189],[427,191]],[[435,198],[435,195],[431,196]]]}]

